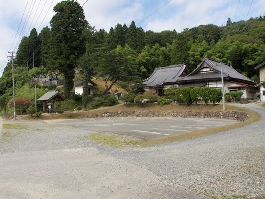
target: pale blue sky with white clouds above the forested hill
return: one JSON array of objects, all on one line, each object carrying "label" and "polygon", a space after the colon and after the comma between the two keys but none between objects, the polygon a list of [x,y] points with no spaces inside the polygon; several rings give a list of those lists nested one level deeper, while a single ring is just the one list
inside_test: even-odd
[{"label": "pale blue sky with white clouds above the forested hill", "polygon": [[[97,30],[117,23],[145,31],[183,31],[201,24],[222,26],[230,17],[232,22],[265,15],[264,0],[77,0],[85,18]],[[13,0],[0,2],[0,75],[10,56],[17,51],[23,36],[32,28],[39,33],[55,14],[53,7],[60,0]]]}]

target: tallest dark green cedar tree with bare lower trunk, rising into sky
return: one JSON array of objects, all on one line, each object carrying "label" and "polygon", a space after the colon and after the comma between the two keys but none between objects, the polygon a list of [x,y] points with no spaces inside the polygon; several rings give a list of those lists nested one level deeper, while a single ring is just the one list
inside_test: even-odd
[{"label": "tallest dark green cedar tree with bare lower trunk, rising into sky", "polygon": [[53,10],[56,14],[50,21],[49,63],[64,75],[64,95],[68,99],[74,87],[77,60],[85,51],[82,32],[88,22],[83,8],[76,1],[62,1]]}]

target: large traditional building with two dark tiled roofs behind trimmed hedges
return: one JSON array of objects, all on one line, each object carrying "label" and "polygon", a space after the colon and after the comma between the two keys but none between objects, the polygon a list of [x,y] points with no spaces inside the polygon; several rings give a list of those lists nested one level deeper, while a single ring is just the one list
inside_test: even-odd
[{"label": "large traditional building with two dark tiled roofs behind trimmed hedges", "polygon": [[254,82],[237,72],[231,65],[205,58],[190,74],[185,74],[184,64],[156,68],[153,74],[143,83],[146,90],[155,89],[158,95],[168,87],[203,87],[222,88],[221,66],[223,70],[225,92],[242,91],[244,99],[255,98]]}]

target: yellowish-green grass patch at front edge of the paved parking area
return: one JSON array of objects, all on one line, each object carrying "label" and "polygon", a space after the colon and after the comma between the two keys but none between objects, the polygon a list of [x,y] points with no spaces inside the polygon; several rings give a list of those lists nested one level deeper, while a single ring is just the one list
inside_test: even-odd
[{"label": "yellowish-green grass patch at front edge of the paved parking area", "polygon": [[124,148],[126,146],[139,146],[139,139],[131,136],[123,136],[116,134],[109,134],[103,132],[96,132],[83,136],[82,140],[92,140],[99,144],[107,145],[109,147]]}]

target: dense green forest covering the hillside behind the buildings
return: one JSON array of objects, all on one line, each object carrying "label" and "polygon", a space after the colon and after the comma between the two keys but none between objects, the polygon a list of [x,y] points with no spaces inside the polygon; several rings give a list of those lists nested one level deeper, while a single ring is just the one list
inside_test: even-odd
[{"label": "dense green forest covering the hillside behind the buildings", "polygon": [[[53,73],[64,78],[67,98],[71,97],[74,81],[84,80],[86,91],[87,81],[95,76],[136,92],[137,85],[156,67],[185,63],[191,72],[204,57],[229,63],[258,81],[254,67],[265,62],[264,17],[238,22],[228,18],[223,27],[200,25],[180,33],[144,31],[134,21],[129,25],[118,23],[106,31],[96,30],[86,21],[78,2],[63,1],[54,11],[50,27],[39,33],[33,28],[22,38],[15,58],[16,87],[38,74]],[[111,87],[107,85],[103,94]],[[8,63],[0,78],[2,105],[12,96],[11,87]]]}]

